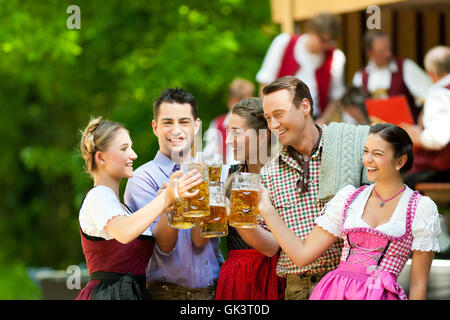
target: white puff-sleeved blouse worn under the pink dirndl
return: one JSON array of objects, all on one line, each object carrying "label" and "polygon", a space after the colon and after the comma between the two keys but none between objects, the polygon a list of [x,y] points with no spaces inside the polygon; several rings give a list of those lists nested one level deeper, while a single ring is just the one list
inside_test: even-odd
[{"label": "white puff-sleeved blouse worn under the pink dirndl", "polygon": [[[374,184],[365,188],[348,208],[347,219],[344,223],[345,229],[371,228],[363,219],[362,215],[367,200],[372,192]],[[316,219],[316,223],[337,237],[343,237],[341,222],[343,219],[344,203],[347,197],[355,191],[352,185],[347,185],[325,205],[322,209],[323,215]],[[399,237],[405,233],[406,211],[408,201],[413,190],[406,187],[392,214],[389,222],[375,228],[389,236]],[[423,196],[418,205],[411,225],[413,235],[412,250],[439,252],[439,235],[441,233],[440,215],[436,204],[427,196]]]}]

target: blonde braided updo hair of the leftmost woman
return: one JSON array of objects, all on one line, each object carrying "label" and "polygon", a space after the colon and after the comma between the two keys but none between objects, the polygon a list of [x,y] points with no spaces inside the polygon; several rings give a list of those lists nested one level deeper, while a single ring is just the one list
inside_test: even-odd
[{"label": "blonde braided updo hair of the leftmost woman", "polygon": [[125,127],[120,123],[98,117],[91,118],[86,129],[81,131],[81,155],[86,163],[86,171],[90,175],[97,169],[95,153],[105,152],[119,129],[125,129]]}]

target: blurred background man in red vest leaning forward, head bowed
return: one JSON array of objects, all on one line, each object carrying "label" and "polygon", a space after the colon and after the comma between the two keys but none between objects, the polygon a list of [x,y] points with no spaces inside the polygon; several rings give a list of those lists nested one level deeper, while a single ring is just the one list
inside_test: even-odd
[{"label": "blurred background man in red vest leaning forward, head bowed", "polygon": [[[262,89],[283,76],[296,76],[309,88],[316,107],[314,119],[326,124],[345,92],[345,55],[337,49],[340,23],[327,13],[310,19],[304,34],[282,33],[275,37],[266,53],[256,80]],[[260,94],[261,95],[261,94]]]}]

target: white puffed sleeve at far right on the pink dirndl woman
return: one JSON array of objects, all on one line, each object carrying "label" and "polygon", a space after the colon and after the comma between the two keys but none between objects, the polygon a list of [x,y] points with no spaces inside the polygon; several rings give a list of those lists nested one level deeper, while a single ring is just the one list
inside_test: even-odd
[{"label": "white puffed sleeve at far right on the pink dirndl woman", "polygon": [[429,197],[422,197],[411,226],[412,250],[439,252],[440,214]]}]

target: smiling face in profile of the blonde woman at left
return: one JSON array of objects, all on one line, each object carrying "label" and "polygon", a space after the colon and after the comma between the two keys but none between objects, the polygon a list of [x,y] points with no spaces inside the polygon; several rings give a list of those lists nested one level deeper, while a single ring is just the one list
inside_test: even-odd
[{"label": "smiling face in profile of the blonde woman at left", "polygon": [[130,135],[126,129],[117,130],[105,152],[97,152],[98,168],[105,170],[111,177],[120,180],[133,176],[133,161],[137,155],[132,149]]}]

